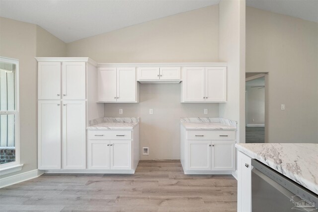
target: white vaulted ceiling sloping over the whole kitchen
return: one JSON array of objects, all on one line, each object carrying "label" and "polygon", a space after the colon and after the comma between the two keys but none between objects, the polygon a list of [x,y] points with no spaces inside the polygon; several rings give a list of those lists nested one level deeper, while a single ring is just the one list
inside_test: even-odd
[{"label": "white vaulted ceiling sloping over the whole kitchen", "polygon": [[[219,2],[220,0],[0,0],[0,16],[37,24],[69,43]],[[256,8],[318,22],[318,0],[246,0],[246,3]]]}]

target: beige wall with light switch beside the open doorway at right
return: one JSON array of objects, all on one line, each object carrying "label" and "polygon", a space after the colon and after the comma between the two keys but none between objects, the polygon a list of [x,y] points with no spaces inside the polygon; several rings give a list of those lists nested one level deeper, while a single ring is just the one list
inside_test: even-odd
[{"label": "beige wall with light switch beside the open doorway at right", "polygon": [[268,72],[265,142],[318,142],[317,47],[317,23],[246,7],[246,72]]}]

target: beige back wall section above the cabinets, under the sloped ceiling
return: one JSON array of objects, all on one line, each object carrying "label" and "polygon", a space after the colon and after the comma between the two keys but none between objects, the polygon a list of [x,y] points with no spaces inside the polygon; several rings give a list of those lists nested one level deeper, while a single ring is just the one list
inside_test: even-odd
[{"label": "beige back wall section above the cabinets, under the sloped ceiling", "polygon": [[218,28],[213,5],[68,43],[67,56],[98,63],[216,62]]}]

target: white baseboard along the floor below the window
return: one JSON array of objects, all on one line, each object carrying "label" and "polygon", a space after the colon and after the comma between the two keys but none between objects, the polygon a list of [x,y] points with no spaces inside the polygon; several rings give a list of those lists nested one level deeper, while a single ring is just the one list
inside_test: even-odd
[{"label": "white baseboard along the floor below the window", "polygon": [[34,169],[31,171],[15,174],[12,176],[4,177],[0,179],[0,188],[10,186],[16,183],[20,183],[26,180],[30,180],[44,174],[44,171]]}]

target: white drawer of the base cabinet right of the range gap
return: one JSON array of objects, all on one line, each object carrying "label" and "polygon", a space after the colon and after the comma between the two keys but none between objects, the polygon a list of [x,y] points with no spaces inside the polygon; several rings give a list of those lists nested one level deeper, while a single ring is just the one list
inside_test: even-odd
[{"label": "white drawer of the base cabinet right of the range gap", "polygon": [[235,140],[235,131],[188,131],[187,140]]}]

